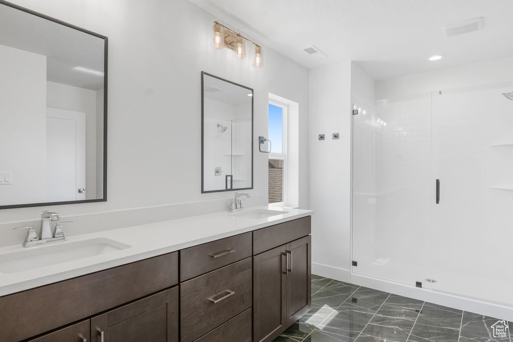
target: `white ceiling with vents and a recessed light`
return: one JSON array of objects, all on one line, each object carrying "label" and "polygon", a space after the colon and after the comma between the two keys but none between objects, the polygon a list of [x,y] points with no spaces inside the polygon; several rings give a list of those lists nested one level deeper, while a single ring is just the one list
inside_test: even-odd
[{"label": "white ceiling with vents and a recessed light", "polygon": [[[378,80],[513,55],[512,0],[189,1],[308,69],[355,61]],[[481,31],[444,36],[480,16]],[[300,50],[310,45],[328,57]]]}]

